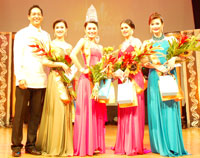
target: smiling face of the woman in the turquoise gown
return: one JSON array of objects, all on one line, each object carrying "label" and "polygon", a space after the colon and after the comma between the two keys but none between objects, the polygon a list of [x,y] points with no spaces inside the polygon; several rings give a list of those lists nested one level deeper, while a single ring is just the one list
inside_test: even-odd
[{"label": "smiling face of the woman in the turquoise gown", "polygon": [[159,18],[153,19],[150,23],[150,31],[154,35],[161,35],[163,33],[163,23]]}]

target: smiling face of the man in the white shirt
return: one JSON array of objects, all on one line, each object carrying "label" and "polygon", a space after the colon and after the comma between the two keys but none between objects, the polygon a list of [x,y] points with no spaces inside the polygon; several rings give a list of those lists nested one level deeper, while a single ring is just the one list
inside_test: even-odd
[{"label": "smiling face of the man in the white shirt", "polygon": [[41,10],[39,8],[33,8],[30,12],[30,15],[28,16],[28,19],[30,21],[30,24],[39,28],[43,20]]}]

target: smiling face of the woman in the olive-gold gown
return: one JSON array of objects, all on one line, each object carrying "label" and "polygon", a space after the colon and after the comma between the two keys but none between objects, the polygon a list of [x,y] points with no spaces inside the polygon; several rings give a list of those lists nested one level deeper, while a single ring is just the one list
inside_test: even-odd
[{"label": "smiling face of the woman in the olive-gold gown", "polygon": [[55,25],[54,33],[57,38],[63,38],[67,33],[67,28],[63,22],[59,22]]}]

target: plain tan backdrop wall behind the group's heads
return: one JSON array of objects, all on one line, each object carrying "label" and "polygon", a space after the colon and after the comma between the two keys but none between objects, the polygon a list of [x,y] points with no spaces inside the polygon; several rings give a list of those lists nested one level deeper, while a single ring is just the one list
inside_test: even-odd
[{"label": "plain tan backdrop wall behind the group's heads", "polygon": [[153,12],[164,18],[164,32],[194,29],[191,0],[0,0],[0,31],[17,32],[28,25],[28,9],[38,4],[43,8],[42,27],[51,34],[55,20],[63,18],[69,25],[66,40],[75,46],[84,36],[87,9],[93,4],[99,20],[100,44],[122,43],[120,22],[130,18],[136,25],[135,36],[144,41],[151,38],[148,18]]}]

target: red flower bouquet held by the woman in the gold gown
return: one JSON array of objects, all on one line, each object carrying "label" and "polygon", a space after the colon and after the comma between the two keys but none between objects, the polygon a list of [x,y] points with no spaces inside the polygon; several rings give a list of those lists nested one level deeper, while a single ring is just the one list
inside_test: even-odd
[{"label": "red flower bouquet held by the woman in the gold gown", "polygon": [[[62,62],[67,66],[72,66],[72,60],[69,55],[65,54],[62,48],[54,47],[50,43],[44,43],[36,38],[33,38],[32,45],[33,53],[38,56],[44,56],[48,60],[53,62]],[[56,72],[56,82],[60,93],[61,100],[67,104],[76,98],[76,93],[71,84],[71,80],[65,74],[65,71],[60,67],[52,68]]]}]

